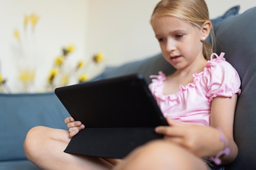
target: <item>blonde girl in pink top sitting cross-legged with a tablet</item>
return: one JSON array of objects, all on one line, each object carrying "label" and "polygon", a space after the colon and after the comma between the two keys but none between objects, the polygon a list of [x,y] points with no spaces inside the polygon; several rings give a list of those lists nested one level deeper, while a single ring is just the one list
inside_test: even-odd
[{"label": "blonde girl in pink top sitting cross-legged with a tablet", "polygon": [[150,22],[164,58],[176,68],[170,76],[152,76],[150,84],[170,124],[155,129],[164,139],[135,149],[124,161],[67,154],[70,138],[85,127],[69,117],[69,131],[42,126],[29,131],[24,143],[29,160],[42,169],[208,170],[223,169],[236,158],[233,122],[240,78],[224,53],[211,54],[205,42],[212,30],[206,3],[162,0]]}]

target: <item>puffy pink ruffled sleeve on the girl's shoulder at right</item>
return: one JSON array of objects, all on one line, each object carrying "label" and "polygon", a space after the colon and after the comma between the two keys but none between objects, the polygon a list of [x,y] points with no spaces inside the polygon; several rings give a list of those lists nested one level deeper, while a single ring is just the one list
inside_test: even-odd
[{"label": "puffy pink ruffled sleeve on the girl's shoulder at right", "polygon": [[[240,94],[240,77],[235,68],[223,57],[225,53],[218,56],[213,53],[211,60],[208,61],[205,68],[205,82],[208,88],[207,98],[209,102],[216,96],[233,97],[236,93]],[[216,56],[213,59],[213,56]]]}]

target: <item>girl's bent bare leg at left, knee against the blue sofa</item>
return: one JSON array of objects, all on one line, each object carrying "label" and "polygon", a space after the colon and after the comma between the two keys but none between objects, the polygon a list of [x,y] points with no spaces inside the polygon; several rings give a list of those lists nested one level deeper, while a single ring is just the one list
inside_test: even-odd
[{"label": "girl's bent bare leg at left, knee against the blue sofa", "polygon": [[68,131],[37,126],[27,133],[24,150],[27,158],[43,170],[109,170],[114,167],[102,158],[64,153],[69,142]]}]

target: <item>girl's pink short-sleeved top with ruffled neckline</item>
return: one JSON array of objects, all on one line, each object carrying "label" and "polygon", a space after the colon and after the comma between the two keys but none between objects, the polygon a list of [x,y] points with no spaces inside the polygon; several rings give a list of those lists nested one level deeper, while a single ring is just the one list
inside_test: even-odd
[{"label": "girl's pink short-sleeved top with ruffled neckline", "polygon": [[[187,84],[186,87],[180,85],[175,94],[163,95],[165,74],[159,72],[159,75],[150,76],[153,80],[149,88],[165,117],[209,126],[213,98],[240,94],[240,78],[233,66],[225,60],[224,54],[222,52],[218,56],[213,53],[204,70],[193,74],[193,83]],[[214,55],[216,58],[213,59]]]}]

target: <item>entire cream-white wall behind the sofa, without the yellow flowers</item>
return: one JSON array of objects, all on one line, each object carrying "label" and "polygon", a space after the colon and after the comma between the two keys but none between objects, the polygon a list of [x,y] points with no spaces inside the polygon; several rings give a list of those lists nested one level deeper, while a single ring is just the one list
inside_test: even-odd
[{"label": "entire cream-white wall behind the sofa, without the yellow flowers", "polygon": [[[36,66],[36,89],[45,87],[52,62],[68,44],[75,46],[70,64],[105,54],[105,65],[121,65],[160,52],[150,15],[159,0],[0,0],[0,74],[13,92],[20,92],[18,65]],[[256,6],[251,0],[206,0],[210,17],[240,4],[240,13]],[[13,37],[22,30],[25,14],[40,16],[36,26],[36,56],[22,63]],[[23,60],[24,61],[24,60]],[[89,74],[102,70],[93,68]]]}]

